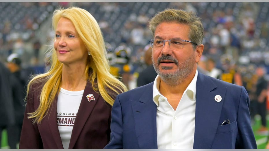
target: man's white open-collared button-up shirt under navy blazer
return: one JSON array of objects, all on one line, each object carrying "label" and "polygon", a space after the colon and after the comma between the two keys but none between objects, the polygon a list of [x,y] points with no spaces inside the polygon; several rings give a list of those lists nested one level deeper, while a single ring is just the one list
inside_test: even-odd
[{"label": "man's white open-collared button-up shirt under navy blazer", "polygon": [[157,105],[158,149],[193,149],[197,75],[196,70],[176,110],[159,92],[159,75],[155,78],[153,101]]}]

